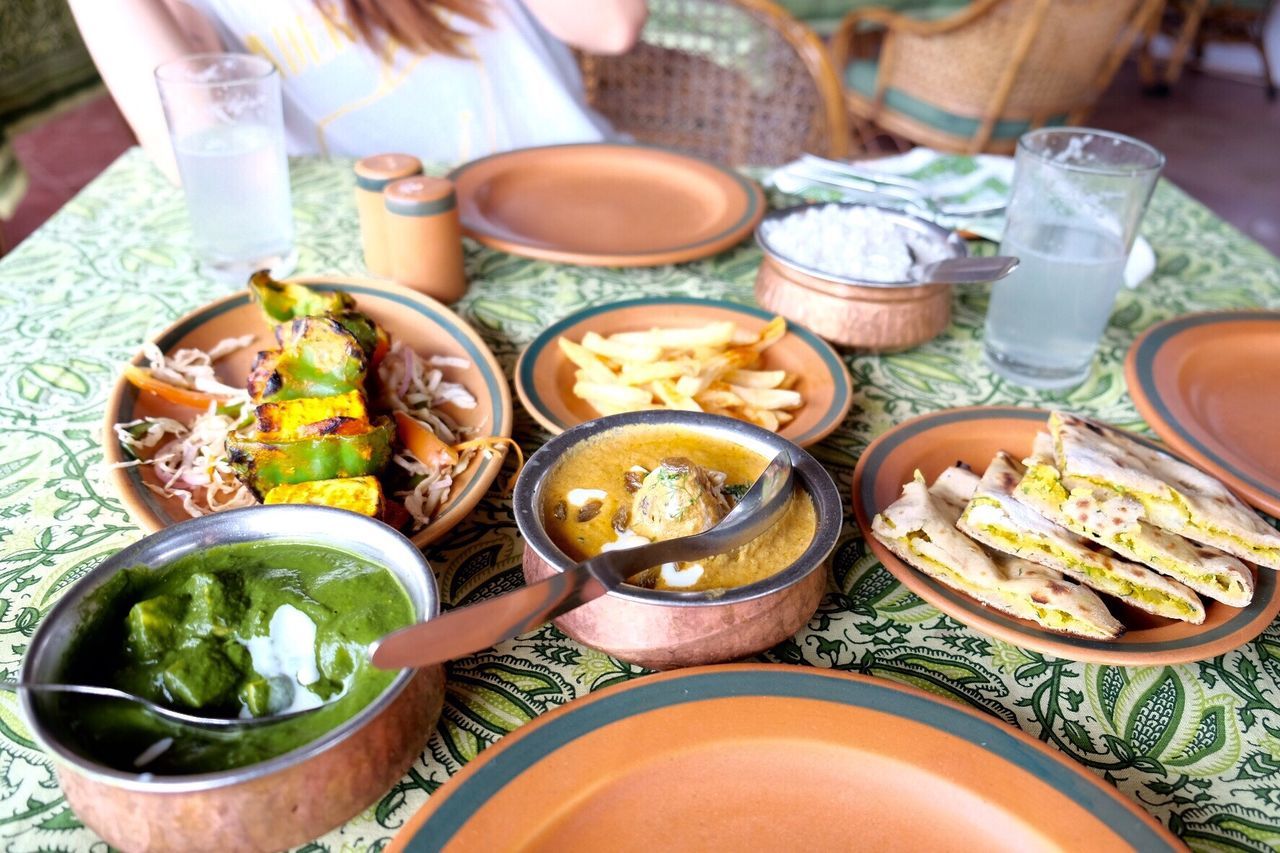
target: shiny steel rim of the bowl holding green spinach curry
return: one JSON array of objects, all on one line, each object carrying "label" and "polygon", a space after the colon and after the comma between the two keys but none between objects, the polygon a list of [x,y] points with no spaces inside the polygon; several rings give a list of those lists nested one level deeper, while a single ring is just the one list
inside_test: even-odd
[{"label": "shiny steel rim of the bowl holding green spinach curry", "polygon": [[[282,533],[282,530],[287,533]],[[280,544],[328,546],[352,552],[396,575],[413,605],[415,619],[431,619],[440,612],[440,597],[430,564],[412,542],[381,521],[347,510],[323,506],[252,506],[180,521],[152,533],[104,560],[101,565],[76,581],[40,622],[31,639],[31,648],[22,661],[19,678],[40,681],[47,679],[36,678],[37,671],[58,671],[61,657],[46,660],[54,654],[52,652],[46,653],[46,647],[59,639],[63,640],[64,647],[72,642],[74,630],[69,621],[77,615],[77,608],[90,593],[120,569],[136,565],[164,566],[200,548],[261,540]],[[65,638],[54,637],[60,628],[67,628],[69,635]],[[372,702],[338,726],[296,749],[242,767],[180,776],[151,776],[100,765],[64,745],[49,730],[37,713],[37,702],[32,699],[29,690],[19,690],[18,697],[22,713],[40,745],[74,767],[78,774],[116,788],[151,794],[175,794],[227,788],[269,776],[330,749],[352,736],[366,722],[390,706],[413,678],[415,671],[401,670]]]}]

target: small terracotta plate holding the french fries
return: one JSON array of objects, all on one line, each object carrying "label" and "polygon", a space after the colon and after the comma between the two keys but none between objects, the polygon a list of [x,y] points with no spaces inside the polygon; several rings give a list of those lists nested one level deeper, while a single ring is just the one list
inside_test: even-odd
[{"label": "small terracotta plate holding the french fries", "polygon": [[[588,332],[609,336],[654,327],[699,327],[717,320],[732,320],[756,330],[772,319],[772,314],[755,306],[681,296],[589,307],[547,327],[525,347],[516,364],[516,393],[534,420],[558,434],[600,416],[590,403],[573,396],[577,368],[561,353],[556,342],[561,336],[581,341]],[[778,430],[783,438],[808,447],[829,435],[849,414],[854,400],[849,370],[831,345],[808,329],[788,323],[786,336],[764,351],[763,362],[768,370],[800,375],[796,391],[804,397],[804,406],[794,412],[795,420]]]}]

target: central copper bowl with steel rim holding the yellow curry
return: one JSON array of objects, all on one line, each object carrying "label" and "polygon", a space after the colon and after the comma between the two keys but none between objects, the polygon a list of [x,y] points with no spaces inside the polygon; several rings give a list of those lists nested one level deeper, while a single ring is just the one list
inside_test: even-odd
[{"label": "central copper bowl with steel rim holding the yellow curry", "polygon": [[[795,465],[796,491],[801,493],[796,500],[806,496],[805,500],[812,503],[812,528],[804,526],[805,534],[797,540],[795,528],[780,530],[776,526],[756,542],[732,552],[741,557],[739,562],[748,571],[765,571],[764,576],[753,578],[749,583],[691,592],[625,584],[559,616],[557,628],[585,646],[650,669],[732,661],[762,652],[795,634],[814,613],[827,589],[826,561],[836,546],[844,520],[840,494],[826,469],[801,448],[754,424],[719,415],[668,410],[609,415],[573,426],[544,444],[529,459],[513,496],[516,524],[525,539],[525,581],[536,583],[589,556],[566,553],[562,547],[566,539],[559,523],[566,512],[561,511],[557,497],[562,491],[562,475],[582,470],[589,460],[595,459],[602,461],[596,476],[616,475],[625,480],[626,470],[637,459],[634,453],[628,456],[626,450],[628,433],[632,439],[643,433],[649,443],[654,437],[659,442],[669,438],[660,448],[640,451],[641,456],[649,453],[652,459],[669,451],[684,457],[686,453],[698,456],[727,448],[724,452],[753,457],[755,462],[750,464],[750,470],[756,474],[773,456],[788,452]],[[653,471],[657,473],[657,469]],[[613,500],[625,502],[620,496]],[[557,500],[548,508],[552,498]],[[568,517],[581,515],[582,511],[577,510],[577,516]],[[808,511],[804,517],[808,519]],[[632,519],[632,524],[639,523]],[[602,526],[596,524],[591,535],[598,537]],[[618,528],[614,526],[614,530]],[[622,539],[627,534],[635,535],[631,526],[626,532],[620,530],[617,537]],[[756,548],[750,551],[751,546]],[[771,551],[791,556],[783,565],[768,571],[763,561],[769,558]],[[708,566],[710,560],[705,561]],[[694,569],[701,574],[700,566]],[[714,578],[713,571],[708,569],[707,576]],[[666,575],[658,578],[659,584],[663,578]]]}]

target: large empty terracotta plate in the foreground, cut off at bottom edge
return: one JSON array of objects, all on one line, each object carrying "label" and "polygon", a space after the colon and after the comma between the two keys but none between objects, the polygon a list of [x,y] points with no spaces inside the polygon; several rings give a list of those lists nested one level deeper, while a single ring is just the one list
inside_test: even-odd
[{"label": "large empty terracotta plate in the foreground, cut off at bottom edge", "polygon": [[991,716],[861,675],[730,665],[538,717],[445,783],[388,850],[797,844],[1181,849],[1137,803]]}]

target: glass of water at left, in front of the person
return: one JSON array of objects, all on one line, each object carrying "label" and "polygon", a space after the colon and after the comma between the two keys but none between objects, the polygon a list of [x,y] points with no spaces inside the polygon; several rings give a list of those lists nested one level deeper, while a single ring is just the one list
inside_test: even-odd
[{"label": "glass of water at left, in front of the person", "polygon": [[275,67],[248,54],[197,54],[155,74],[206,272],[238,283],[260,269],[288,274],[297,256]]}]

